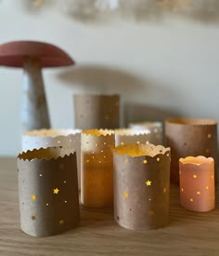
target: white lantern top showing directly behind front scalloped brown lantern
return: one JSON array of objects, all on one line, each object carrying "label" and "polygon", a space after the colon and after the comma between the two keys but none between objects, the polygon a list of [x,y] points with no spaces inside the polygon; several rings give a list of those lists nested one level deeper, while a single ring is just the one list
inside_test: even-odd
[{"label": "white lantern top showing directly behind front scalloped brown lantern", "polygon": [[146,144],[150,141],[150,131],[148,129],[135,130],[132,128],[115,129],[115,145],[123,144]]}]

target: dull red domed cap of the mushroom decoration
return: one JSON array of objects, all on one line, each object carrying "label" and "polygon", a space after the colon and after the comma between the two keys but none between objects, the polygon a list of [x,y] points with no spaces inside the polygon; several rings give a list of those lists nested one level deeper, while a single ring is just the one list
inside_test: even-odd
[{"label": "dull red domed cap of the mushroom decoration", "polygon": [[34,41],[14,41],[0,45],[0,65],[22,67],[29,58],[37,59],[41,67],[73,65],[74,61],[62,49]]}]

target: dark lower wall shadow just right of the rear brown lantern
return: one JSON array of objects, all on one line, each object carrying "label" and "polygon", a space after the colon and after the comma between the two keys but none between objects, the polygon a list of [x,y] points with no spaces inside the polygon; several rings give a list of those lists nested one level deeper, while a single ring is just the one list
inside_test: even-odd
[{"label": "dark lower wall shadow just right of the rear brown lantern", "polygon": [[153,107],[147,104],[126,103],[124,105],[124,125],[132,122],[161,121],[168,118],[179,118],[180,114],[173,110]]}]

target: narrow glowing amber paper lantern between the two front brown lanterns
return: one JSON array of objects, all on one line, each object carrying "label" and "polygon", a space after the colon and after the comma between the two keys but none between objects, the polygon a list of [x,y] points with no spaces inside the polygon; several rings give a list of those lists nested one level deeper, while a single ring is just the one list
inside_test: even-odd
[{"label": "narrow glowing amber paper lantern between the two front brown lanterns", "polygon": [[113,205],[112,130],[91,129],[82,133],[81,200],[85,207]]}]

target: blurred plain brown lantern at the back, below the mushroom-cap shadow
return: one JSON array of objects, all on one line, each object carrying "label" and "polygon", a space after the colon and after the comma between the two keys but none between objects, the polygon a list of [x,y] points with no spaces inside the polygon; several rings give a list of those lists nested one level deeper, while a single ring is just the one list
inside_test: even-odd
[{"label": "blurred plain brown lantern at the back, below the mushroom-cap shadow", "polygon": [[74,95],[75,128],[119,128],[119,95]]}]

